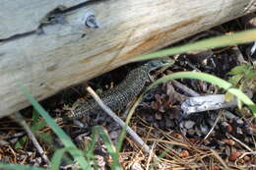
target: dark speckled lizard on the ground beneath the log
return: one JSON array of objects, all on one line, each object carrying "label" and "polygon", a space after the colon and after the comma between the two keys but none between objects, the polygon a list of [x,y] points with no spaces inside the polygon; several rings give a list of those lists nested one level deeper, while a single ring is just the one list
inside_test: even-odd
[{"label": "dark speckled lizard on the ground beneath the log", "polygon": [[[134,97],[136,97],[150,78],[150,72],[160,67],[170,66],[172,59],[155,59],[128,73],[125,80],[113,88],[99,94],[103,103],[113,111],[124,108]],[[94,99],[88,101],[76,101],[71,108],[66,108],[65,117],[68,119],[82,118],[90,113],[102,113]]]}]

